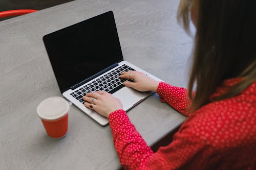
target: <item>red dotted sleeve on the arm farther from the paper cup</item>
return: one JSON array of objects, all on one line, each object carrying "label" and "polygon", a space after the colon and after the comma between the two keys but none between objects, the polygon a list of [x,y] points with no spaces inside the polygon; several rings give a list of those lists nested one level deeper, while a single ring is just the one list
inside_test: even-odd
[{"label": "red dotted sleeve on the arm farther from the paper cup", "polygon": [[188,98],[188,90],[182,87],[176,87],[164,82],[160,82],[157,93],[162,102],[167,102],[181,114],[189,114],[191,101]]}]

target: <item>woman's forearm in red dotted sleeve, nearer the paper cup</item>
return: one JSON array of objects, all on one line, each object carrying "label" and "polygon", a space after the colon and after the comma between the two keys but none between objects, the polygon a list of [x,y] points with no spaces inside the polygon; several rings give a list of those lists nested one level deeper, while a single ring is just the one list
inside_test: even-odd
[{"label": "woman's forearm in red dotted sleeve, nearer the paper cup", "polygon": [[121,165],[126,169],[143,169],[153,151],[146,144],[124,110],[110,114],[110,127]]}]

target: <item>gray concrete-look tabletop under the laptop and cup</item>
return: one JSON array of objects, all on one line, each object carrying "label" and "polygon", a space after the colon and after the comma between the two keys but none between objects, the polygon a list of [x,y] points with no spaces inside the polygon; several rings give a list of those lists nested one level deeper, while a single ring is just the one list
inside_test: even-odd
[{"label": "gray concrete-look tabletop under the laptop and cup", "polygon": [[[117,169],[109,126],[71,106],[65,138],[47,136],[36,114],[61,96],[42,36],[113,10],[124,59],[186,86],[192,39],[178,25],[178,0],[74,1],[0,22],[0,169]],[[154,94],[127,113],[149,145],[185,119]]]}]

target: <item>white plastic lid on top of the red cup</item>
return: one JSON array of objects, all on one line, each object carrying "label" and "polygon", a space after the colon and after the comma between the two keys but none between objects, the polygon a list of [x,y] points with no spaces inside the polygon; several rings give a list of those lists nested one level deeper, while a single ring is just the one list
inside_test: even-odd
[{"label": "white plastic lid on top of the red cup", "polygon": [[55,120],[68,113],[69,104],[65,99],[59,96],[53,96],[43,100],[37,106],[36,111],[42,119]]}]

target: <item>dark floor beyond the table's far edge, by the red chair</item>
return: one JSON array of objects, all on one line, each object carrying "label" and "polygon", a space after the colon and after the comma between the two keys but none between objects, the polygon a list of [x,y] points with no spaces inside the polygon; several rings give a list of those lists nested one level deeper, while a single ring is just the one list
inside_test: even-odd
[{"label": "dark floor beyond the table's far edge, by the red chair", "polygon": [[[73,0],[1,0],[0,11],[14,10],[14,9],[35,9],[41,10],[55,5],[67,3]],[[0,21],[9,19],[0,18]]]}]

